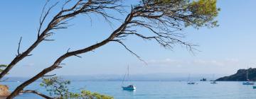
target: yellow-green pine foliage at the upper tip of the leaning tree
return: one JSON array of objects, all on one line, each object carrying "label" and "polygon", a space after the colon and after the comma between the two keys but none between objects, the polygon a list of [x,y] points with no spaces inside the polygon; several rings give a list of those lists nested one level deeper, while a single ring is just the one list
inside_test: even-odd
[{"label": "yellow-green pine foliage at the upper tip of the leaning tree", "polygon": [[220,11],[216,6],[217,0],[145,0],[145,2],[146,4],[140,6],[157,9],[157,13],[163,13],[164,16],[183,23],[186,27],[218,26],[218,21],[214,20]]}]

